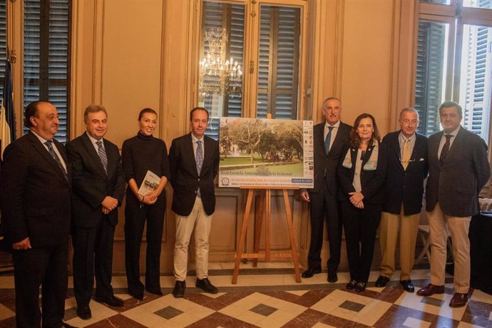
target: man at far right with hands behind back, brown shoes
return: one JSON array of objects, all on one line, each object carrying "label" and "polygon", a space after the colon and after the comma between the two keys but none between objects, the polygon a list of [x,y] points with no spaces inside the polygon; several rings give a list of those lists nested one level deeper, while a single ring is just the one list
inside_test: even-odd
[{"label": "man at far right with hands behind back, brown shoes", "polygon": [[439,107],[444,131],[429,137],[429,178],[426,210],[431,238],[431,283],[417,292],[420,296],[444,293],[446,269],[446,224],[451,231],[454,257],[454,295],[450,307],[464,307],[470,287],[471,216],[476,215],[478,193],[491,175],[487,145],[465,130],[461,106],[445,101]]}]

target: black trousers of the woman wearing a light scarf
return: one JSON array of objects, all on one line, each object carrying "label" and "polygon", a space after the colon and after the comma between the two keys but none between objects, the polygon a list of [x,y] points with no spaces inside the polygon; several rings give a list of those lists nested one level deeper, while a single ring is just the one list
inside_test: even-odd
[{"label": "black trousers of the woman wearing a light scarf", "polygon": [[381,221],[382,205],[364,203],[364,209],[359,210],[349,200],[344,200],[341,206],[350,279],[367,282],[374,256],[376,231]]}]

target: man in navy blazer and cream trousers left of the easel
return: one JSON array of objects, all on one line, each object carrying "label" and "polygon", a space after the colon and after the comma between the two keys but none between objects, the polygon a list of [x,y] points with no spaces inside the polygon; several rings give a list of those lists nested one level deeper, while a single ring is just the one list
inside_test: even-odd
[{"label": "man in navy blazer and cream trousers left of the easel", "polygon": [[217,288],[208,280],[208,237],[215,212],[214,178],[219,170],[219,143],[205,136],[208,112],[196,107],[190,112],[191,133],[175,138],[169,150],[173,211],[176,215],[174,246],[174,297],[185,294],[188,245],[194,233],[196,287],[212,294]]}]

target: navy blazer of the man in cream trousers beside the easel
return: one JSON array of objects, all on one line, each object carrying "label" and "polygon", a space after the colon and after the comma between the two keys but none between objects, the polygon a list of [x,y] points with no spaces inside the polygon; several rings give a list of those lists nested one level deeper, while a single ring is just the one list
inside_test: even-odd
[{"label": "navy blazer of the man in cream trousers beside the easel", "polygon": [[219,143],[212,138],[203,137],[203,166],[198,175],[193,152],[191,133],[175,138],[169,150],[171,185],[173,185],[173,211],[188,216],[193,210],[198,188],[207,215],[215,212],[215,175],[219,170]]}]

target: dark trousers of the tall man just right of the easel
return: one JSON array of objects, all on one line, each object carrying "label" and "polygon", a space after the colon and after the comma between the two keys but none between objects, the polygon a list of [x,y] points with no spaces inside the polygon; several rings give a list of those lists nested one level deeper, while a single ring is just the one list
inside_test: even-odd
[{"label": "dark trousers of the tall man just right of the easel", "polygon": [[319,193],[309,193],[309,207],[311,210],[311,242],[307,263],[309,267],[321,269],[321,250],[323,246],[324,222],[327,222],[329,271],[336,272],[340,264],[340,247],[342,245],[342,221],[339,217],[339,202],[336,195],[328,192],[326,183]]}]

